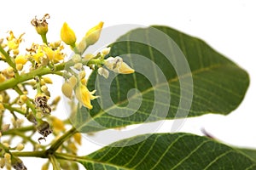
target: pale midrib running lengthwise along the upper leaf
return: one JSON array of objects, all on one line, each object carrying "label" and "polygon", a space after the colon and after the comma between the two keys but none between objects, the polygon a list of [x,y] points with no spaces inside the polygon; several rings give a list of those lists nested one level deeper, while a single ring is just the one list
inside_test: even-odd
[{"label": "pale midrib running lengthwise along the upper leaf", "polygon": [[[195,71],[191,71],[191,73],[186,73],[186,74],[184,74],[183,76],[174,77],[174,78],[170,79],[170,80],[167,81],[167,82],[168,82],[168,84],[171,83],[171,82],[177,82],[177,81],[178,81],[178,78],[189,77],[190,75],[193,76],[193,75],[199,74],[199,73],[201,73],[201,72],[203,72],[203,71],[211,71],[211,70],[218,69],[218,68],[221,68],[221,67],[224,67],[224,66],[228,66],[228,65],[234,66],[233,63],[225,63],[225,64],[210,65],[210,66],[207,66],[207,67],[204,67],[204,68],[200,68],[200,69],[195,70]],[[152,91],[154,88],[161,87],[161,86],[164,86],[164,85],[166,85],[166,82],[159,83],[159,84],[157,84],[157,85],[154,86],[154,87],[151,87],[151,88],[148,88],[148,89],[144,90],[144,91],[141,92],[140,94],[142,94],[142,95],[143,95],[143,94],[147,94],[148,92]],[[130,99],[136,98],[137,95],[140,95],[140,94],[134,94],[134,95],[131,96]],[[104,111],[100,111],[98,114],[96,114],[96,116],[90,116],[90,119],[89,119],[88,121],[84,122],[84,124],[83,124],[82,126],[80,126],[79,128],[86,126],[86,124],[90,123],[91,120],[94,120],[94,119],[96,119],[96,118],[99,117],[99,116],[102,116],[104,113],[106,113],[106,112],[112,110],[114,107],[119,106],[119,105],[123,105],[123,104],[125,104],[126,102],[128,102],[128,99],[124,99],[123,101],[119,101],[118,103],[116,103],[116,105],[113,105],[113,106],[111,106],[111,107],[108,107],[108,109],[106,109],[106,110],[104,110]]]}]

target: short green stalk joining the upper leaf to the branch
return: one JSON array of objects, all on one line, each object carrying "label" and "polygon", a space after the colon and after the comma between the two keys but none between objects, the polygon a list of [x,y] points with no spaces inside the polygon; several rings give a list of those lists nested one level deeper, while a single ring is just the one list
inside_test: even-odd
[{"label": "short green stalk joining the upper leaf to the branch", "polygon": [[47,152],[50,154],[54,153],[55,150],[58,150],[58,148],[63,144],[67,139],[69,139],[71,136],[73,136],[74,133],[77,133],[77,129],[75,127],[72,127],[67,133],[64,133],[61,138],[57,139],[55,143],[53,143]]}]

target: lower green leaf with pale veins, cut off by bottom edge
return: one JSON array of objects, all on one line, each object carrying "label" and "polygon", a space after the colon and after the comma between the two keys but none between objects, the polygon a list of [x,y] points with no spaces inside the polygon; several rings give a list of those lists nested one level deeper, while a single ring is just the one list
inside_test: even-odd
[{"label": "lower green leaf with pale veins, cut off by bottom edge", "polygon": [[[113,147],[116,144],[130,144]],[[255,161],[241,153],[206,137],[189,133],[144,134],[110,144],[81,157],[80,163],[91,169],[256,169]]]}]

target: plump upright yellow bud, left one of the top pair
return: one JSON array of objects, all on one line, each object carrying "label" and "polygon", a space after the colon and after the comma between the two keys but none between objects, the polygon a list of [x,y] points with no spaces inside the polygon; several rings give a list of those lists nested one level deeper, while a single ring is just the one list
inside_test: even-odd
[{"label": "plump upright yellow bud, left one of the top pair", "polygon": [[67,25],[66,22],[61,28],[61,40],[72,47],[75,46],[75,42],[77,41],[74,31]]}]

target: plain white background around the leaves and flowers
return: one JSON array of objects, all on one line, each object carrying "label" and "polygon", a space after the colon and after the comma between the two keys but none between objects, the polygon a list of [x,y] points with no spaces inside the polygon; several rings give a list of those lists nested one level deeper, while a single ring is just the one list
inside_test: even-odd
[{"label": "plain white background around the leaves and flowers", "polygon": [[[67,21],[83,37],[91,26],[104,21],[105,27],[118,24],[143,26],[165,25],[200,37],[221,54],[235,61],[250,75],[251,82],[245,99],[229,116],[207,115],[187,120],[181,131],[201,133],[201,127],[227,144],[256,148],[256,3],[253,0],[236,1],[2,1],[0,3],[0,34],[13,30],[15,35],[26,32],[26,43],[40,42],[40,37],[30,25],[35,15],[38,18],[48,13],[49,41],[60,39],[62,23]],[[61,93],[59,88],[53,88]],[[61,111],[60,111],[61,112]],[[63,111],[61,112],[63,114]],[[65,115],[66,116],[66,115]],[[65,117],[61,115],[61,117]],[[165,123],[160,132],[169,132],[170,123]],[[84,139],[85,155],[100,148]],[[40,169],[32,161],[24,159],[29,169]],[[37,159],[39,161],[39,159]],[[33,164],[37,163],[33,161]],[[34,167],[35,166],[35,167]],[[33,168],[32,168],[33,167]]]}]

